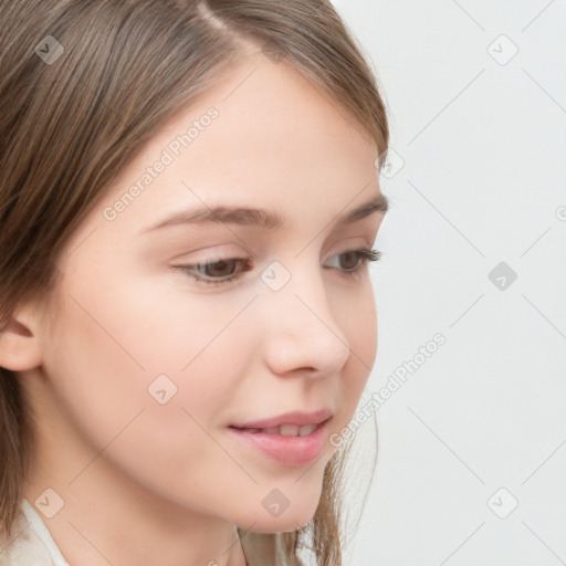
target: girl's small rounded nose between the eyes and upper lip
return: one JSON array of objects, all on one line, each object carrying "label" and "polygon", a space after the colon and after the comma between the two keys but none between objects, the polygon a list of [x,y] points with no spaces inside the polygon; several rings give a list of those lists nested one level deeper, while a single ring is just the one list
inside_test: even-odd
[{"label": "girl's small rounded nose between the eyes and upper lip", "polygon": [[331,308],[321,273],[294,270],[279,291],[264,290],[263,350],[277,375],[332,376],[349,356],[349,343]]}]

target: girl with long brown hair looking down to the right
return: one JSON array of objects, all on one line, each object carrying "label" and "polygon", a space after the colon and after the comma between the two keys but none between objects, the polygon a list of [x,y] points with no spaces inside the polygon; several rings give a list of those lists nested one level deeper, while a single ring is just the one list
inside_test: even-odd
[{"label": "girl with long brown hair looking down to the right", "polygon": [[340,565],[387,210],[355,41],[326,0],[1,10],[0,564]]}]

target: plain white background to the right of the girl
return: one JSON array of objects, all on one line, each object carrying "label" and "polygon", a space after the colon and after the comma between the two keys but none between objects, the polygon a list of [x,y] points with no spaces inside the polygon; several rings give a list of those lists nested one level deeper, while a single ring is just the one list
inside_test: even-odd
[{"label": "plain white background to the right of the girl", "polygon": [[381,176],[367,394],[447,340],[376,412],[346,564],[566,564],[566,1],[334,4],[403,161]]}]

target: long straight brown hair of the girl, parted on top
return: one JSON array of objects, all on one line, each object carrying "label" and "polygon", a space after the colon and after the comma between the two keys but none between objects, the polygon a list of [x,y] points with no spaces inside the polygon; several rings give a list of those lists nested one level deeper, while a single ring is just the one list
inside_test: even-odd
[{"label": "long straight brown hair of the girl, parted on top", "polygon": [[[338,102],[375,142],[379,168],[387,155],[376,78],[328,0],[19,0],[1,11],[0,329],[20,305],[49,302],[60,250],[105,188],[161,125],[245,56],[245,44],[268,45],[274,61],[285,57]],[[64,49],[59,59],[48,35]],[[45,42],[51,61],[49,48],[38,51]],[[342,564],[346,452],[328,462],[312,521],[319,566]],[[15,373],[0,368],[1,536],[11,536],[32,455],[29,400]],[[306,534],[271,536],[296,559]]]}]

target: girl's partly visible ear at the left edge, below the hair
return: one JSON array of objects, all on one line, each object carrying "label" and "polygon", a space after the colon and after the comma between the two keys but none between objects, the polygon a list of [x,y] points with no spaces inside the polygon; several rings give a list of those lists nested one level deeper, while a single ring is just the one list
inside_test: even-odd
[{"label": "girl's partly visible ear at the left edge, below the hair", "polygon": [[27,371],[42,363],[39,313],[29,303],[17,308],[0,327],[0,367]]}]

